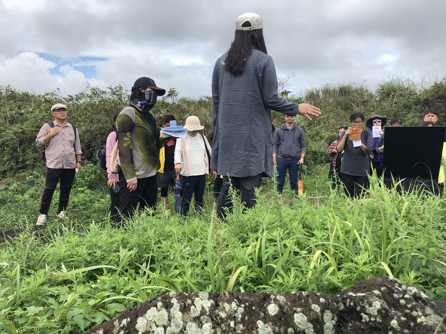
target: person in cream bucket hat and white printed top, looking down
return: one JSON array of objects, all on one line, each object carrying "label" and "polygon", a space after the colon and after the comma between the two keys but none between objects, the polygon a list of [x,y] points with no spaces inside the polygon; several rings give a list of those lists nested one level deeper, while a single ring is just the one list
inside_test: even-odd
[{"label": "person in cream bucket hat and white printed top, looking down", "polygon": [[[205,136],[198,134],[200,130],[203,130],[203,126],[197,116],[186,118],[184,127],[187,129],[187,134],[186,137],[177,139],[173,160],[176,174],[182,177],[183,200],[180,213],[182,216],[187,216],[192,195],[194,195],[195,210],[202,211],[203,209],[211,146]],[[215,180],[216,177],[217,173],[212,172],[212,179]]]}]

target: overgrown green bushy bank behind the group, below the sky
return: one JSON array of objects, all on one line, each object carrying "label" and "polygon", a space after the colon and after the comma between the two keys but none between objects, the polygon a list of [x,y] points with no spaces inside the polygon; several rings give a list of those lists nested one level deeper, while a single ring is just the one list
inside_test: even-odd
[{"label": "overgrown green bushy bank behind the group, below the sky", "polygon": [[[444,114],[446,106],[446,81],[435,82],[425,88],[423,83],[391,77],[382,81],[372,90],[368,86],[325,85],[304,90],[298,95],[288,97],[290,101],[308,102],[322,110],[319,118],[308,121],[297,118],[297,124],[306,134],[310,163],[324,161],[322,151],[336,137],[336,129],[349,122],[354,111],[361,111],[367,117],[379,113],[383,117],[399,115],[405,125],[421,124],[422,113],[434,108]],[[128,104],[128,91],[123,86],[108,87],[100,90],[89,87],[74,96],[61,97],[58,92],[43,95],[30,94],[0,86],[0,173],[7,174],[33,168],[42,164],[40,152],[34,144],[38,130],[52,120],[50,107],[63,102],[70,111],[68,120],[79,129],[81,146],[87,160],[95,161],[95,155],[105,143],[111,131],[112,114]],[[205,133],[211,130],[211,98],[178,98],[178,92],[170,89],[168,94],[159,99],[153,113],[158,122],[166,114],[174,114],[178,124],[184,124],[190,115],[198,116],[205,126]],[[273,124],[277,128],[283,124],[283,114],[273,112]],[[440,117],[438,125],[443,125]]]}]

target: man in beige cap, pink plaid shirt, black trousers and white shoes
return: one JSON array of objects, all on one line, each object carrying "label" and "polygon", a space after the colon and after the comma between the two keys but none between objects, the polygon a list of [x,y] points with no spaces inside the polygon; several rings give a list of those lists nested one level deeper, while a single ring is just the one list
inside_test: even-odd
[{"label": "man in beige cap, pink plaid shirt, black trousers and white shoes", "polygon": [[66,105],[58,103],[51,107],[54,116],[53,127],[45,123],[37,135],[36,145],[45,149],[46,175],[45,190],[43,191],[40,215],[36,225],[45,225],[46,216],[50,209],[54,190],[60,179],[59,208],[56,212],[58,218],[70,220],[65,214],[74,174],[82,168],[81,146],[79,143],[79,132],[66,121]]}]

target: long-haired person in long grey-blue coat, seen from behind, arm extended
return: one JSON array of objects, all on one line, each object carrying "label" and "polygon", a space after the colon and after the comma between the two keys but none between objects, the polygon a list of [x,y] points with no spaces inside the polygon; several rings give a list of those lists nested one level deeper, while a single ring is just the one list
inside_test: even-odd
[{"label": "long-haired person in long grey-blue coat, seen from behind, arm extended", "polygon": [[230,206],[229,179],[241,189],[248,208],[256,204],[254,188],[262,176],[273,176],[273,126],[271,109],[306,118],[320,111],[308,103],[286,101],[278,96],[273,59],[263,38],[263,21],[254,13],[237,18],[231,48],[216,62],[212,74],[211,169],[223,175],[218,215]]}]

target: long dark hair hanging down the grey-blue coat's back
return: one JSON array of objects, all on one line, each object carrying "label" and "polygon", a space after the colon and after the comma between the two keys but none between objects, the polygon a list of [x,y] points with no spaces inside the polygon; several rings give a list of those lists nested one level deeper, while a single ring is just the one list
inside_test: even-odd
[{"label": "long dark hair hanging down the grey-blue coat's back", "polygon": [[[242,27],[250,26],[251,23],[249,21],[242,24]],[[235,30],[235,38],[227,52],[224,69],[231,74],[241,75],[245,63],[244,58],[251,56],[252,48],[268,54],[262,29]]]}]

